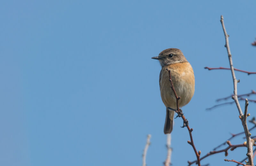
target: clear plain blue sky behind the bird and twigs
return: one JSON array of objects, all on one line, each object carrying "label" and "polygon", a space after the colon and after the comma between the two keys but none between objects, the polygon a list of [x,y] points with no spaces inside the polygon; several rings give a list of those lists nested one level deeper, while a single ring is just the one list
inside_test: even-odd
[{"label": "clear plain blue sky behind the bird and twigs", "polygon": [[[161,165],[165,107],[161,67],[151,57],[166,48],[181,49],[194,69],[195,95],[183,110],[197,150],[206,154],[243,130],[235,105],[205,110],[233,92],[230,71],[204,69],[228,67],[220,15],[234,67],[256,71],[255,6],[252,0],[1,1],[0,165],[141,165],[147,134],[147,165]],[[239,94],[255,90],[254,75],[236,77]],[[249,103],[252,116],[255,108]],[[175,119],[173,165],[196,159],[181,125]],[[245,154],[240,148],[202,164],[234,165],[223,159]]]}]

